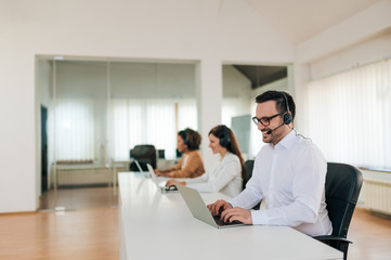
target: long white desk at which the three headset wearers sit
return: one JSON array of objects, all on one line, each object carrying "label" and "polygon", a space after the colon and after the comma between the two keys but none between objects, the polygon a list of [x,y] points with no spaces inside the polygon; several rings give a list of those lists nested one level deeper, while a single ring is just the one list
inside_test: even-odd
[{"label": "long white desk at which the three headset wearers sit", "polygon": [[[342,252],[287,226],[216,229],[193,218],[179,193],[161,194],[142,173],[120,172],[118,180],[122,260],[342,259]],[[207,204],[226,198],[201,196]]]}]

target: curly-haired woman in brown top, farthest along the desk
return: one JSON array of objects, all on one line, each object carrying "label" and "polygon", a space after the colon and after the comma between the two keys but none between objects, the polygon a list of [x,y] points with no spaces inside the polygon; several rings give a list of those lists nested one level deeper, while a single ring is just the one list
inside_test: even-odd
[{"label": "curly-haired woman in brown top, farthest along the desk", "polygon": [[179,131],[177,147],[178,152],[183,153],[181,160],[166,170],[156,169],[156,174],[169,178],[196,178],[203,174],[204,162],[198,152],[200,143],[201,135],[198,132],[190,128]]}]

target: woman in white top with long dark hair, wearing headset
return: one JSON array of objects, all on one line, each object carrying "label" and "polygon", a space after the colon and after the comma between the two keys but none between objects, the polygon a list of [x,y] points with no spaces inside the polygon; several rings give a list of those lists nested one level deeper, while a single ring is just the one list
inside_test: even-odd
[{"label": "woman in white top with long dark hair, wearing headset", "polygon": [[201,177],[186,181],[169,180],[166,186],[187,185],[198,192],[221,192],[231,197],[242,192],[245,162],[232,130],[224,125],[209,131],[209,147],[220,154],[219,161]]}]

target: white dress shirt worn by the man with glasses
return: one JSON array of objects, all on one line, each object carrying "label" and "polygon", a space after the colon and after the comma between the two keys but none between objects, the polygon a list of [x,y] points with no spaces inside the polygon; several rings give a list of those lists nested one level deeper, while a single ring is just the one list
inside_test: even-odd
[{"label": "white dress shirt worn by the man with glasses", "polygon": [[287,225],[311,235],[329,235],[333,226],[325,204],[327,162],[308,139],[290,131],[275,146],[258,153],[246,188],[229,203],[251,209],[252,224]]}]

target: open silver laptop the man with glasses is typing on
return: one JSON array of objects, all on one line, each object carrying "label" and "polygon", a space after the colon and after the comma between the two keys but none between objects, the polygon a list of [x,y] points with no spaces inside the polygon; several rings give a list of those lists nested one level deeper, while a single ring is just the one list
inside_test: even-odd
[{"label": "open silver laptop the man with glasses is typing on", "polygon": [[204,199],[199,195],[198,191],[183,185],[177,185],[177,187],[181,193],[182,198],[186,203],[187,208],[190,209],[194,218],[204,221],[205,223],[210,224],[218,229],[245,225],[239,221],[233,221],[232,223],[224,223],[222,220],[220,220],[220,216],[213,217],[212,213],[209,212],[209,209],[205,205]]}]

